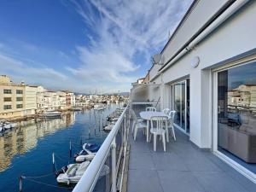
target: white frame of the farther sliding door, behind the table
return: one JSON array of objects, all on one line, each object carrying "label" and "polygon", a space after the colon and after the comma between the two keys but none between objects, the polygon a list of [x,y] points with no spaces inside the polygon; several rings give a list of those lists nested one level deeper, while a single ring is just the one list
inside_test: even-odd
[{"label": "white frame of the farther sliding door, behind the table", "polygon": [[[176,81],[176,82],[174,82],[174,83],[172,83],[172,84],[170,84],[170,86],[171,86],[171,108],[172,108],[172,110],[175,110],[175,108],[174,108],[174,106],[175,106],[175,96],[174,96],[174,91],[175,91],[175,89],[174,89],[174,87],[175,87],[175,84],[180,84],[180,83],[185,83],[185,109],[184,109],[184,113],[185,113],[185,118],[184,118],[184,122],[185,122],[185,129],[183,129],[180,125],[177,125],[176,123],[174,123],[174,125],[180,130],[180,131],[183,131],[183,133],[185,133],[186,135],[188,135],[189,136],[189,133],[190,132],[188,132],[188,126],[187,126],[187,115],[188,115],[188,103],[187,103],[187,81],[188,81],[188,79],[189,78],[186,78],[186,79],[182,79],[182,80],[179,80],[179,81]],[[190,81],[189,81],[189,83],[190,83]],[[180,90],[180,95],[182,95],[182,89]],[[182,108],[182,105],[180,105],[181,107],[180,108]],[[182,111],[182,110],[180,110],[180,111]],[[182,120],[182,113],[180,113],[180,119]]]}]

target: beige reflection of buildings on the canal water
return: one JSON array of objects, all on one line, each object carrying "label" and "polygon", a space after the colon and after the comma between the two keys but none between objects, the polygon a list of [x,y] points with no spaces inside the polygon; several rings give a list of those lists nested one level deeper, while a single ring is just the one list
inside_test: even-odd
[{"label": "beige reflection of buildings on the canal water", "polygon": [[0,137],[0,172],[11,165],[16,154],[25,154],[35,148],[38,138],[64,129],[74,121],[75,113],[65,113],[61,119],[39,120],[37,123],[33,119],[20,122],[19,129]]}]

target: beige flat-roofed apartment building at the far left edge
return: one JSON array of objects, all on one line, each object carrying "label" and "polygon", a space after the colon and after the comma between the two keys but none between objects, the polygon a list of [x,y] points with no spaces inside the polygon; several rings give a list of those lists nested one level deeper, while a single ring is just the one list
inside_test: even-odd
[{"label": "beige flat-roofed apartment building at the far left edge", "polygon": [[25,109],[25,85],[14,84],[6,75],[0,76],[0,119],[23,115]]}]

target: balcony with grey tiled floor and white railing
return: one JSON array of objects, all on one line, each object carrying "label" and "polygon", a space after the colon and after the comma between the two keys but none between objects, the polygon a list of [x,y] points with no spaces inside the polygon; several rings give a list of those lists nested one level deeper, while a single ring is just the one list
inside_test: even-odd
[{"label": "balcony with grey tiled floor and white railing", "polygon": [[[166,144],[166,152],[160,141],[154,152],[142,130],[137,131],[134,141],[129,108],[120,115],[73,192],[255,191],[255,183],[209,150],[197,148],[179,130],[177,141],[171,139]],[[110,172],[99,177],[104,165]]]}]

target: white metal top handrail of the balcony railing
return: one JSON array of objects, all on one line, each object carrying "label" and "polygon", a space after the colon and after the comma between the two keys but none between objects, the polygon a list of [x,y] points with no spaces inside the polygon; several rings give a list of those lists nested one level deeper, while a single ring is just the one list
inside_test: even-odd
[{"label": "white metal top handrail of the balcony railing", "polygon": [[96,156],[90,162],[90,165],[84,172],[83,177],[80,178],[79,183],[73,189],[73,192],[90,192],[93,191],[96,181],[101,172],[102,166],[104,166],[105,161],[108,157],[108,152],[115,142],[114,139],[119,131],[120,125],[125,117],[125,112],[127,111],[129,105],[126,106],[123,113],[119,116],[118,121],[113,126],[113,129],[109,132],[108,137],[106,137],[104,143],[102,143],[101,148],[96,153]]}]

